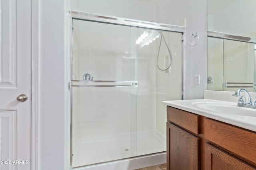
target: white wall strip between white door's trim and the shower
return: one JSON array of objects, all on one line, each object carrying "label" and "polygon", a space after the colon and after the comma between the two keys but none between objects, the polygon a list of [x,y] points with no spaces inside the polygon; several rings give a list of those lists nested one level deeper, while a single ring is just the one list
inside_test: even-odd
[{"label": "white wall strip between white door's trim and the shower", "polygon": [[38,170],[69,169],[67,2],[39,0]]}]

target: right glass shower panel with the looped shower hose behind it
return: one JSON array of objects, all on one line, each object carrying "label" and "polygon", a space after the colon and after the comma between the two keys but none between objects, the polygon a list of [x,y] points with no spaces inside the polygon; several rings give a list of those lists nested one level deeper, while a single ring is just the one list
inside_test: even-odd
[{"label": "right glass shower panel with the looped shower hose behind it", "polygon": [[[162,101],[181,100],[182,96],[182,34],[137,28],[137,39],[145,32],[144,41],[150,43],[137,44],[137,156],[166,151],[166,106]],[[172,56],[170,68],[164,39]],[[159,70],[157,63],[168,69]]]}]

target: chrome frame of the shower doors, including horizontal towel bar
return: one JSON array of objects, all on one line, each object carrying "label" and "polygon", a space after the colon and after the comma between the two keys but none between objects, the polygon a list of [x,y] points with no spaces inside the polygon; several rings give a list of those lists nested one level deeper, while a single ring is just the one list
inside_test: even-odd
[{"label": "chrome frame of the shower doors, including horizontal towel bar", "polygon": [[[84,20],[84,21],[93,21],[93,22],[99,22],[99,23],[109,23],[114,25],[125,25],[125,26],[132,26],[132,27],[138,27],[138,28],[146,28],[146,29],[156,29],[156,30],[164,30],[164,31],[171,31],[171,32],[178,32],[182,34],[182,66],[181,66],[181,99],[184,100],[185,98],[185,57],[184,57],[184,33],[185,33],[185,27],[178,26],[178,25],[170,25],[170,24],[164,24],[164,23],[156,23],[151,21],[142,21],[142,20],[133,20],[133,19],[127,19],[127,18],[119,18],[119,17],[113,17],[113,16],[106,16],[106,15],[99,15],[99,14],[91,14],[91,13],[85,13],[85,12],[78,12],[78,11],[70,11],[70,20],[72,23],[72,20]],[[72,27],[72,25],[71,25]],[[73,30],[73,29],[71,29]],[[72,33],[71,33],[72,36]],[[73,36],[71,37],[71,48],[70,48],[70,72],[72,72],[72,42],[73,42]],[[107,83],[107,84],[106,84]],[[103,85],[102,85],[103,84]],[[82,81],[82,80],[72,80],[72,74],[70,74],[70,96],[72,98],[72,88],[73,87],[82,87],[82,86],[93,86],[93,87],[102,87],[102,86],[108,86],[108,87],[124,87],[124,86],[132,86],[137,87],[138,81]],[[72,169],[72,99],[70,100],[70,169]]]}]

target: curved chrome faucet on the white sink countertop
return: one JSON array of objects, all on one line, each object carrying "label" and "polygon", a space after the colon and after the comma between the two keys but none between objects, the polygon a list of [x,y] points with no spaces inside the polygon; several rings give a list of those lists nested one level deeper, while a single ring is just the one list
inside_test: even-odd
[{"label": "curved chrome faucet on the white sink countertop", "polygon": [[[244,92],[244,95],[245,95],[244,100],[240,92]],[[254,101],[254,103],[252,103],[252,98],[247,90],[240,88],[236,90],[236,92],[232,94],[232,96],[239,97],[237,106],[256,108],[256,100]],[[247,99],[249,100],[248,102],[247,102]]]}]

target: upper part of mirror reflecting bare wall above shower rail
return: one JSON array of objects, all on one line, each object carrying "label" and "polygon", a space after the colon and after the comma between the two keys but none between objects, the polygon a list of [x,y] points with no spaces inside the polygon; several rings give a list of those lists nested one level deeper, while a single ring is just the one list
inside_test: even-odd
[{"label": "upper part of mirror reflecting bare wall above shower rail", "polygon": [[208,31],[256,37],[255,0],[207,0]]}]

